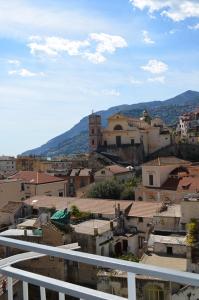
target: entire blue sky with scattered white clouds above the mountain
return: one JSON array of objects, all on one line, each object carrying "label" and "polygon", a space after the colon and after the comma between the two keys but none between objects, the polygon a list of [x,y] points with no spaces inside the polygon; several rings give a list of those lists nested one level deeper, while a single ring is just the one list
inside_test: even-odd
[{"label": "entire blue sky with scattered white clouds above the mountain", "polygon": [[198,0],[0,0],[0,154],[186,90],[199,91]]}]

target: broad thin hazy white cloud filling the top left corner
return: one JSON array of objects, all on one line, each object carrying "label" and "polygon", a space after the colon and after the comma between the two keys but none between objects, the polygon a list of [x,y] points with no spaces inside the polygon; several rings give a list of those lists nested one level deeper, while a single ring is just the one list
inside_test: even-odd
[{"label": "broad thin hazy white cloud filling the top left corner", "polygon": [[108,18],[99,16],[97,12],[89,11],[89,8],[86,11],[77,5],[74,7],[67,4],[72,1],[62,1],[63,5],[59,5],[57,1],[51,3],[52,5],[43,5],[40,2],[0,1],[0,35],[26,39],[38,32],[41,35],[54,35],[56,32],[70,35],[86,34],[88,28],[98,32],[112,30],[118,26]]}]

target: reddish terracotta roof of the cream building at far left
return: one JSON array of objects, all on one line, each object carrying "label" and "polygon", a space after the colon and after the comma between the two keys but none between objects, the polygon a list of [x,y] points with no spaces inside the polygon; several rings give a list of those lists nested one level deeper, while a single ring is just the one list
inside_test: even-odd
[{"label": "reddish terracotta roof of the cream building at far left", "polygon": [[46,173],[35,172],[35,171],[20,171],[9,178],[21,179],[26,183],[32,183],[32,184],[51,183],[51,182],[64,180],[63,178],[59,178],[59,177],[48,175]]}]

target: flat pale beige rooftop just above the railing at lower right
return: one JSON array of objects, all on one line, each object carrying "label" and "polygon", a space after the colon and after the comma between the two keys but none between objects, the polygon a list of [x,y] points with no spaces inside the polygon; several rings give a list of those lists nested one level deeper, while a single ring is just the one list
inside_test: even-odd
[{"label": "flat pale beige rooftop just above the railing at lower right", "polygon": [[171,268],[178,271],[187,270],[186,258],[160,256],[154,253],[150,255],[144,254],[141,263],[145,265],[153,265],[156,267]]}]

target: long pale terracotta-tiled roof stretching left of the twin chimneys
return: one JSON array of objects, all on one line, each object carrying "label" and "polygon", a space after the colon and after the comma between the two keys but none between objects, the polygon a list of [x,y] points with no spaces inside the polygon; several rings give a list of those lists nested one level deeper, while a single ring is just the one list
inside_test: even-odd
[{"label": "long pale terracotta-tiled roof stretching left of the twin chimneys", "polygon": [[120,204],[120,209],[126,211],[130,209],[132,201],[130,200],[109,200],[94,198],[76,198],[76,197],[50,197],[50,196],[34,196],[24,201],[27,205],[34,208],[55,207],[57,210],[77,206],[81,211],[91,212],[93,214],[114,215],[115,206]]}]

